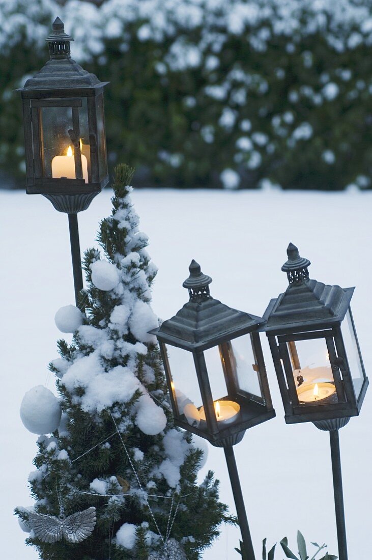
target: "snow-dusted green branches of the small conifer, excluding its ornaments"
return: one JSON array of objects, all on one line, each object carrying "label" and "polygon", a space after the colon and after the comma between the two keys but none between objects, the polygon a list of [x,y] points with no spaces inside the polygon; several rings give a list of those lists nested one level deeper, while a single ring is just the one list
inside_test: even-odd
[{"label": "snow-dusted green branches of the small conifer, excluding its ornaments", "polygon": [[[138,216],[131,207],[131,188],[127,184],[132,175],[133,170],[128,167],[117,167],[113,215],[102,220],[98,234],[106,260],[116,264],[120,271],[121,283],[110,291],[99,290],[92,283],[91,265],[100,259],[101,253],[96,249],[86,251],[87,289],[81,293],[84,325],[74,333],[72,344],[59,340],[62,360],[49,365],[58,377],[56,385],[62,398],[63,421],[51,437],[39,437],[39,451],[34,460],[37,470],[30,477],[37,512],[58,515],[56,490],[59,489],[66,515],[95,506],[97,524],[93,534],[79,544],[64,540],[46,544],[30,536],[26,543],[34,545],[43,560],[109,557],[112,560],[147,560],[149,553],[162,545],[156,536],[158,529],[163,537],[168,534],[182,542],[189,560],[199,560],[203,550],[218,536],[220,524],[236,522],[227,515],[227,506],[219,502],[218,481],[213,479],[213,473],[209,472],[203,484],[197,485],[202,451],[189,445],[192,443],[190,435],[182,435],[173,426],[158,347],[153,342],[139,342],[128,320],[111,322],[117,306],[127,305],[131,313],[139,301],[147,307],[148,288],[156,274],[144,249],[147,237],[138,231]],[[108,347],[100,346],[101,337],[106,337]],[[96,361],[87,362],[92,358]],[[86,381],[79,377],[81,363],[88,367]],[[66,381],[71,367],[77,367],[73,384]],[[102,380],[106,385],[118,367],[122,368],[120,376],[133,379],[134,374],[141,383],[140,388],[133,389],[122,400],[110,401],[103,408],[87,404],[84,398],[97,368],[100,371],[102,368]],[[114,398],[116,386],[124,382],[122,379],[124,377],[114,381]],[[103,390],[102,381],[100,387]],[[143,395],[150,395],[166,415],[166,427],[156,435],[148,435],[136,424],[137,407]],[[180,482],[172,486],[159,470],[163,461],[169,461],[164,439],[169,435],[172,445],[180,445],[184,454]],[[98,495],[90,486],[96,479],[106,484],[105,491]],[[142,488],[148,495],[156,523],[143,499]],[[27,511],[17,510],[16,514],[24,520],[28,518]],[[124,524],[135,526],[133,548],[124,548],[115,542],[115,535]]]}]

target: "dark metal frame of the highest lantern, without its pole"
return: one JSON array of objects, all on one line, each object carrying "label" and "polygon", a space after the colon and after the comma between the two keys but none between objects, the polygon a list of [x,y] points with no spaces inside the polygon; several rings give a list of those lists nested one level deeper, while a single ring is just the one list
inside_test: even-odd
[{"label": "dark metal frame of the highest lantern, without its pole", "polygon": [[[103,113],[103,87],[109,82],[101,82],[70,58],[70,41],[73,38],[64,32],[63,22],[57,17],[53,31],[46,39],[50,60],[17,91],[21,92],[23,105],[26,192],[43,194],[56,210],[72,214],[85,210],[109,183]],[[45,150],[44,136],[48,130],[45,132],[43,129],[42,115],[51,115],[55,109],[70,110],[69,122],[72,126],[66,135],[68,133],[68,142],[73,146],[74,179],[45,176],[48,175],[45,166],[49,160],[45,153],[48,150]],[[89,142],[88,181],[83,179],[79,142],[83,118],[87,120]]]}]

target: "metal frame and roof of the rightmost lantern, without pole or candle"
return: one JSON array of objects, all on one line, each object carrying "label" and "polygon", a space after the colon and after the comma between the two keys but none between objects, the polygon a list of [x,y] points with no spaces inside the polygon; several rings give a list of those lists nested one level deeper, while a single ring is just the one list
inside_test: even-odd
[{"label": "metal frame and roof of the rightmost lantern, without pole or candle", "polygon": [[[298,249],[290,244],[288,261],[282,270],[287,273],[289,286],[286,292],[272,299],[265,313],[265,330],[269,339],[272,358],[281,398],[285,410],[286,423],[316,422],[325,430],[341,428],[350,417],[358,416],[369,384],[357,340],[350,300],[355,288],[327,286],[309,279],[310,261],[301,258]],[[346,352],[341,325],[349,313],[352,335],[355,339],[357,356],[362,372],[362,386],[356,394],[352,382],[352,371]],[[337,402],[327,399],[306,405],[299,403],[293,377],[295,344],[304,340],[323,339],[328,351],[329,363],[335,381]],[[289,347],[294,344],[290,356]],[[333,422],[332,422],[333,421]],[[322,424],[323,423],[323,424]],[[333,428],[333,426],[335,428]]]}]

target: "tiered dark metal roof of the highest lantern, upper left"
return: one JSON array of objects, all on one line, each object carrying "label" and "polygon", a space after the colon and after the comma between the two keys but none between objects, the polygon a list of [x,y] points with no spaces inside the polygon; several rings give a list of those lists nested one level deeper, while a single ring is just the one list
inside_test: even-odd
[{"label": "tiered dark metal roof of the highest lantern, upper left", "polygon": [[63,22],[56,17],[51,34],[46,38],[50,60],[17,91],[86,89],[107,85],[109,82],[101,82],[95,74],[90,74],[72,60],[70,41],[73,41],[72,36],[65,33]]}]

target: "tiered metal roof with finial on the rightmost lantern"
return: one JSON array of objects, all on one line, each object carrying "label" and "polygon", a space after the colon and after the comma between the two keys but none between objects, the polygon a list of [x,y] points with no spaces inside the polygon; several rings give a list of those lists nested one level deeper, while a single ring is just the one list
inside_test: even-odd
[{"label": "tiered metal roof with finial on the rightmost lantern", "polygon": [[340,323],[346,315],[355,288],[329,286],[309,279],[310,261],[300,257],[292,243],[287,249],[288,260],[282,266],[289,286],[279,297],[270,301],[263,319],[266,332],[296,332],[311,328],[327,328]]}]

